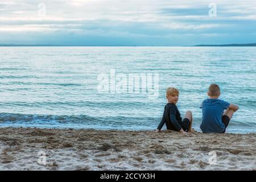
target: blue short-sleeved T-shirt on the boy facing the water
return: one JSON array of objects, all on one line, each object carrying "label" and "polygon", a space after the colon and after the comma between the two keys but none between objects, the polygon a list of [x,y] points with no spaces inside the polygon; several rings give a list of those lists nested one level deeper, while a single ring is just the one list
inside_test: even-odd
[{"label": "blue short-sleeved T-shirt on the boy facing the water", "polygon": [[229,102],[217,98],[204,100],[200,106],[203,111],[203,121],[200,125],[203,133],[223,133],[225,125],[222,122],[224,109],[228,109]]}]

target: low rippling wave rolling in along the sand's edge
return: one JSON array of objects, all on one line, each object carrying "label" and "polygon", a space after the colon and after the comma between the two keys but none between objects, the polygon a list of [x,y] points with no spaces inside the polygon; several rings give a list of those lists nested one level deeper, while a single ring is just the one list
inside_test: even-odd
[{"label": "low rippling wave rolling in along the sand's edge", "polygon": [[[124,117],[89,115],[44,115],[0,113],[0,127],[41,127],[41,128],[74,128],[74,129],[117,129],[117,130],[155,130],[160,117]],[[193,118],[193,129],[200,130],[201,118]],[[256,123],[232,121],[228,127],[231,133],[255,132]],[[166,129],[166,126],[163,127]]]}]

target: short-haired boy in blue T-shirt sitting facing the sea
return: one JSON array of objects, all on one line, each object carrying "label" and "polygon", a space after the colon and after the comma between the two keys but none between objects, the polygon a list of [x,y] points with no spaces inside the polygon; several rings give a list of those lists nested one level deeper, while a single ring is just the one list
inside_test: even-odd
[{"label": "short-haired boy in blue T-shirt sitting facing the sea", "polygon": [[200,128],[203,133],[225,133],[234,112],[239,109],[237,105],[219,100],[220,94],[220,87],[217,84],[209,86],[209,98],[204,100],[200,106],[203,112]]}]

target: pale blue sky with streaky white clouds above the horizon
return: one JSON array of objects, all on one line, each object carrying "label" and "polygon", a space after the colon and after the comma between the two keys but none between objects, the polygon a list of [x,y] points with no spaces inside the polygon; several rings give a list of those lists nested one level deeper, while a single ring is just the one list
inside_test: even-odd
[{"label": "pale blue sky with streaky white clouds above the horizon", "polygon": [[0,0],[0,44],[256,43],[255,0]]}]

